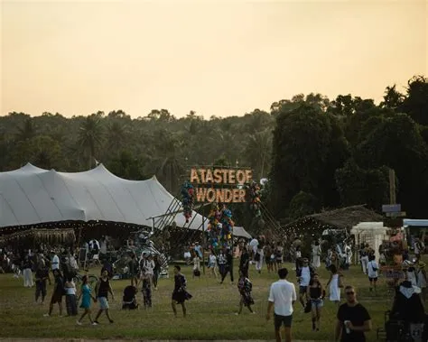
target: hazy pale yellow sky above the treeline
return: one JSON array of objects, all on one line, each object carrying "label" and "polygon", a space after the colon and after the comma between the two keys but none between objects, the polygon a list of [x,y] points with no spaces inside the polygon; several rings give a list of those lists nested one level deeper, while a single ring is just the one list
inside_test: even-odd
[{"label": "hazy pale yellow sky above the treeline", "polygon": [[0,0],[0,115],[209,117],[427,75],[428,1]]}]

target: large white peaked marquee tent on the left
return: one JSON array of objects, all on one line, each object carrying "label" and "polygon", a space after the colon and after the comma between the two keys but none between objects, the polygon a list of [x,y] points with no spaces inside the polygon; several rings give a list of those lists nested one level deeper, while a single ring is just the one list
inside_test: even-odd
[{"label": "large white peaked marquee tent on the left", "polygon": [[[173,199],[155,176],[124,180],[103,164],[69,173],[28,163],[18,170],[0,172],[0,230],[5,226],[97,220],[163,228],[163,215]],[[190,223],[186,223],[181,208],[173,215],[170,220],[176,226],[201,230],[204,222],[204,229],[208,227],[208,219],[195,211]],[[237,227],[234,235],[249,236],[242,227]]]}]

